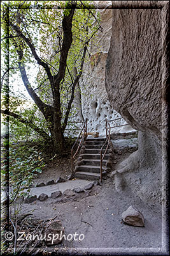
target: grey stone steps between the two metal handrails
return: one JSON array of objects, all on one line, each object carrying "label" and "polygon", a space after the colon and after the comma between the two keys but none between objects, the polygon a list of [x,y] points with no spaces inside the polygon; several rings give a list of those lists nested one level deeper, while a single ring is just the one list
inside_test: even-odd
[{"label": "grey stone steps between the two metal handrails", "polygon": [[[85,144],[81,147],[80,156],[76,162],[74,174],[76,178],[87,180],[100,179],[100,153],[106,138],[87,138]],[[103,148],[106,149],[106,145]],[[103,177],[106,177],[106,165],[110,156],[109,148],[103,159]]]}]

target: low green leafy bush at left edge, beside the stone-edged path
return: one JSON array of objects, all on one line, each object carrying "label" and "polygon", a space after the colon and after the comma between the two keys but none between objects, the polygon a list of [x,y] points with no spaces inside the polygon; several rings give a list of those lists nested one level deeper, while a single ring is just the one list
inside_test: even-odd
[{"label": "low green leafy bush at left edge, beside the stone-edged path", "polygon": [[[1,177],[2,186],[6,177],[6,172],[9,172],[10,184],[10,201],[14,202],[20,196],[28,196],[32,184],[32,180],[42,172],[45,166],[45,161],[42,157],[43,152],[38,150],[38,147],[31,143],[15,143],[9,148],[9,170],[6,168],[6,159],[2,161]],[[3,179],[4,178],[4,179]]]}]

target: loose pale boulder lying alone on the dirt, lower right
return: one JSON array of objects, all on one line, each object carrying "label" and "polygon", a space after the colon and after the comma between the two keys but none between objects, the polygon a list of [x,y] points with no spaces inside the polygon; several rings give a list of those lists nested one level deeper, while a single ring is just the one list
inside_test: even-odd
[{"label": "loose pale boulder lying alone on the dirt, lower right", "polygon": [[122,220],[131,226],[145,227],[143,214],[133,208],[132,205],[122,213]]}]

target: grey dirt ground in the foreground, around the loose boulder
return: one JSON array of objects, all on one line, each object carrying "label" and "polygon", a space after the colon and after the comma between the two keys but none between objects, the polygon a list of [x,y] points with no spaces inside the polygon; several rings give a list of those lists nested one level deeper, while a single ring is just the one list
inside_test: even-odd
[{"label": "grey dirt ground in the foreground, around the loose boulder", "polygon": [[[118,141],[116,141],[117,143]],[[134,144],[122,142],[118,149],[122,154],[117,155],[117,164],[133,150]],[[136,147],[136,146],[135,146]],[[125,149],[127,148],[127,150]],[[60,176],[62,170],[69,172],[69,161],[55,172],[55,166],[46,170],[37,180],[48,181]],[[67,167],[67,168],[66,168]],[[53,175],[51,175],[52,170]],[[56,169],[57,170],[57,169]],[[49,171],[49,173],[47,173]],[[66,175],[62,177],[66,178]],[[136,207],[145,217],[145,227],[132,227],[122,223],[122,212],[130,205]],[[22,206],[22,213],[33,210],[34,218],[46,220],[57,215],[56,220],[62,221],[65,234],[83,234],[82,241],[63,240],[58,248],[159,248],[162,243],[162,214],[161,205],[146,204],[134,195],[130,188],[118,193],[114,180],[103,180],[101,186],[94,186],[85,196],[70,198],[66,202],[56,202],[48,198],[44,202],[36,200]],[[48,248],[49,249],[49,248]],[[108,251],[109,252],[109,251]]]}]

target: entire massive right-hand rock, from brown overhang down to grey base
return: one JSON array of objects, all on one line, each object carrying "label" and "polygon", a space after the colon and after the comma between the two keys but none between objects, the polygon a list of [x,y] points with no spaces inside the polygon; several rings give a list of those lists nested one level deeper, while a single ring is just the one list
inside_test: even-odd
[{"label": "entire massive right-hand rock, from brown overhang down to grey base", "polygon": [[[161,198],[161,10],[113,9],[106,91],[113,109],[139,131],[139,149],[117,170],[143,199]],[[124,182],[123,182],[124,180]]]}]

